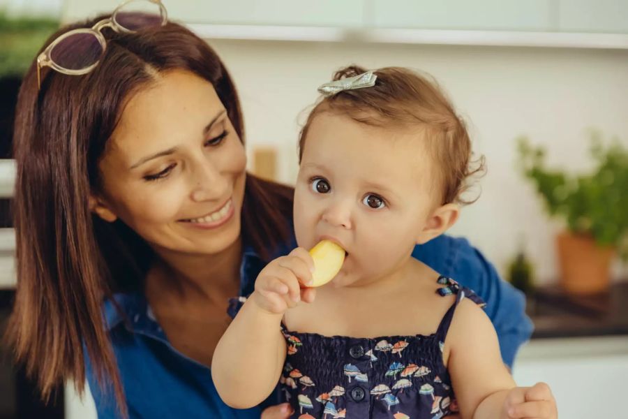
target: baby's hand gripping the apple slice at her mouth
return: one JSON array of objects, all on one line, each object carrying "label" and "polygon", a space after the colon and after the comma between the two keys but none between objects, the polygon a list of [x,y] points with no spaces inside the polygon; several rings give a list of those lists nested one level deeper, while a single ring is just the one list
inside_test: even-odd
[{"label": "baby's hand gripping the apple slice at her mouth", "polygon": [[271,314],[283,314],[301,300],[313,302],[315,288],[301,288],[311,283],[313,270],[310,253],[297,247],[288,256],[276,258],[264,267],[255,280],[251,298]]}]

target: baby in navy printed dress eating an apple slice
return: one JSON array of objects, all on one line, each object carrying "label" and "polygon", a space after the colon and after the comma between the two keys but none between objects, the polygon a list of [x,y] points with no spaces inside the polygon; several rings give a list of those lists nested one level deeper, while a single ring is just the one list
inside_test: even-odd
[{"label": "baby in navy printed dress eating an apple slice", "polygon": [[220,396],[248,408],[280,382],[300,419],[557,418],[546,384],[516,387],[479,297],[412,258],[479,170],[447,98],[404,68],[351,66],[319,91],[299,142],[299,247],[264,267],[220,339]]}]

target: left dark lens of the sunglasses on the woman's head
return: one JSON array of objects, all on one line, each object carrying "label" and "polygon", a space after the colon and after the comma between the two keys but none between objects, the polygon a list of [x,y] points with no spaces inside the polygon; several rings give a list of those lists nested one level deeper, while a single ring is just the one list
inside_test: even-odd
[{"label": "left dark lens of the sunglasses on the woman's head", "polygon": [[63,39],[50,51],[50,59],[67,70],[82,70],[96,64],[103,55],[103,46],[94,34],[79,33]]}]

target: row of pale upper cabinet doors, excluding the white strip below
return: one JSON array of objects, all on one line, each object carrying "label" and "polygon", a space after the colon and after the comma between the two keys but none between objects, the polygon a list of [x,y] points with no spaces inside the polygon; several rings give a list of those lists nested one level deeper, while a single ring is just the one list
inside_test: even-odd
[{"label": "row of pale upper cabinet doors, excluding the white strip below", "polygon": [[[164,0],[188,24],[628,34],[628,0]],[[62,20],[109,13],[118,0],[65,0]]]}]

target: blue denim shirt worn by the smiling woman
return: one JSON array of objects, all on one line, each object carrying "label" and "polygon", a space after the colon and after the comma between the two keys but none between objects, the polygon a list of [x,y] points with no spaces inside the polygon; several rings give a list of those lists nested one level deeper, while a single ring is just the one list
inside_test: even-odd
[{"label": "blue denim shirt worn by the smiling woman", "polygon": [[[276,256],[287,251],[278,249]],[[512,365],[519,346],[532,334],[523,295],[502,281],[493,265],[465,239],[442,235],[417,246],[412,256],[476,291],[487,303],[486,313],[497,330],[502,358]],[[264,262],[254,251],[244,252],[240,295],[253,292],[262,267]],[[114,298],[128,321],[110,302],[105,304],[105,318],[130,418],[260,418],[260,407],[237,410],[222,402],[209,368],[172,347],[142,293],[117,294]],[[100,392],[89,361],[87,378],[98,418],[117,418],[114,399],[110,392]]]}]

